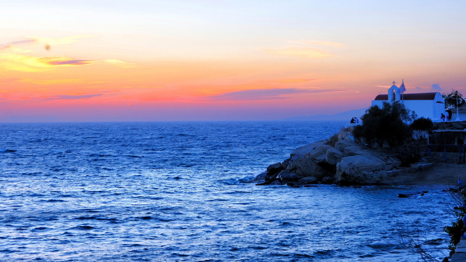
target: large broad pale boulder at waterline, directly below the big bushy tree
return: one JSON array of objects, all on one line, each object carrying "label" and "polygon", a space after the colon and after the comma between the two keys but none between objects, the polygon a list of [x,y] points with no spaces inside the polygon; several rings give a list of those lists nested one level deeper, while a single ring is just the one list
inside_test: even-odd
[{"label": "large broad pale boulder at waterline, directly below the big bushy tree", "polygon": [[374,149],[357,151],[358,155],[343,157],[336,164],[336,183],[340,185],[376,184],[387,170],[401,166],[401,161]]}]

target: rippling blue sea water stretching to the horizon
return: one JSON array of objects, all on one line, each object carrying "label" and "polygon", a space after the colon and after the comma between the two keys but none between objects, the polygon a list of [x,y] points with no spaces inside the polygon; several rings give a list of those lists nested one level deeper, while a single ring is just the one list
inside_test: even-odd
[{"label": "rippling blue sea water stretching to the horizon", "polygon": [[418,261],[390,244],[400,227],[445,239],[423,246],[443,259],[439,187],[255,186],[343,125],[0,124],[0,261]]}]

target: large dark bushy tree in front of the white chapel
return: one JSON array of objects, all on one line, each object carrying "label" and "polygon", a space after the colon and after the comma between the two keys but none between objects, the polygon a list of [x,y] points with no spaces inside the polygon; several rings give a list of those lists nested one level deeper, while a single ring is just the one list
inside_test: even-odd
[{"label": "large dark bushy tree in front of the white chapel", "polygon": [[377,143],[383,147],[384,143],[396,146],[412,136],[409,124],[417,117],[414,111],[406,109],[400,101],[383,102],[382,108],[369,107],[363,114],[362,125],[353,128],[352,134],[356,139],[363,139],[368,145]]}]

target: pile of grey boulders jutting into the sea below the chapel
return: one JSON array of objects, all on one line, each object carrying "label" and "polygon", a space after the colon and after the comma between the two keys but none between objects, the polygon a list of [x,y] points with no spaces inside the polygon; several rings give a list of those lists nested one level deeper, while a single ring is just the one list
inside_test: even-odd
[{"label": "pile of grey boulders jutting into the sea below the chapel", "polygon": [[391,153],[390,148],[370,148],[357,142],[351,131],[352,127],[342,128],[329,139],[296,148],[290,158],[268,166],[267,172],[258,175],[256,185],[391,185],[396,175],[432,167],[425,158],[402,167],[399,154]]}]

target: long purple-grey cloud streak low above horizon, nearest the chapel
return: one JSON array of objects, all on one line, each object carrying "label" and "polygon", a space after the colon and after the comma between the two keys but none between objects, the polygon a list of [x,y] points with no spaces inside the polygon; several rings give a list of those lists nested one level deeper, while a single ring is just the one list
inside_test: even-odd
[{"label": "long purple-grey cloud streak low above horizon, nearest the chapel", "polygon": [[267,88],[267,89],[247,89],[234,92],[228,92],[218,95],[204,96],[203,98],[213,101],[256,101],[256,100],[281,100],[289,99],[282,95],[300,94],[300,93],[321,93],[331,91],[343,91],[336,89],[297,89],[297,88]]}]

